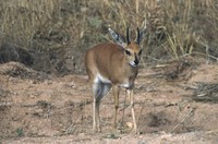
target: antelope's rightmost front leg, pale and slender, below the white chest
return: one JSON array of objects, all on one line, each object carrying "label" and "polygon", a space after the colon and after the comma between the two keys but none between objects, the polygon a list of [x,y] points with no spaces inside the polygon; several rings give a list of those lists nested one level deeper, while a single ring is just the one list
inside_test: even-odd
[{"label": "antelope's rightmost front leg, pale and slender, below the white chest", "polygon": [[132,111],[133,127],[134,127],[133,129],[136,133],[137,132],[137,124],[136,124],[136,120],[135,120],[133,89],[128,89],[128,95],[130,96],[130,103],[131,103],[131,111]]}]

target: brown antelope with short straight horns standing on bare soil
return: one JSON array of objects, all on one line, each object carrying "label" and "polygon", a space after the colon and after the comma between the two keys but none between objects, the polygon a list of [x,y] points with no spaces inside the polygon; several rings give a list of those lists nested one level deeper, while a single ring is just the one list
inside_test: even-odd
[{"label": "brown antelope with short straight horns standing on bare soil", "polygon": [[[99,44],[89,49],[85,56],[85,67],[93,87],[93,129],[100,131],[99,105],[100,99],[112,87],[114,96],[114,128],[119,108],[120,87],[126,88],[131,100],[133,128],[136,132],[135,112],[133,107],[134,81],[138,72],[138,63],[142,56],[140,41],[142,35],[137,28],[137,38],[130,41],[129,28],[126,28],[126,43],[124,38],[111,28],[108,28],[117,44]],[[96,125],[97,124],[97,125]]]}]

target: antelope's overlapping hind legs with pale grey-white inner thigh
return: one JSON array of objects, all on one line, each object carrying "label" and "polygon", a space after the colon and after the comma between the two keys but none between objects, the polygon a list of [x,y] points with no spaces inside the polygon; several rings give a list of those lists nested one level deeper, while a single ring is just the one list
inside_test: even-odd
[{"label": "antelope's overlapping hind legs with pale grey-white inner thigh", "polygon": [[93,101],[93,130],[100,132],[100,117],[99,117],[99,106],[101,98],[108,94],[111,85],[101,82],[94,84],[94,101]]}]

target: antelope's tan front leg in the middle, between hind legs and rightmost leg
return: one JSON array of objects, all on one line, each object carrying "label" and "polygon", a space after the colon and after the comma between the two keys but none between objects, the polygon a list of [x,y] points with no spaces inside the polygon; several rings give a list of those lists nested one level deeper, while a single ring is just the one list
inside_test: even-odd
[{"label": "antelope's tan front leg in the middle, between hind legs and rightmost leg", "polygon": [[112,86],[113,91],[113,97],[114,97],[114,118],[113,118],[113,128],[117,127],[117,115],[118,115],[118,108],[119,108],[119,93],[120,93],[120,87],[114,85]]}]

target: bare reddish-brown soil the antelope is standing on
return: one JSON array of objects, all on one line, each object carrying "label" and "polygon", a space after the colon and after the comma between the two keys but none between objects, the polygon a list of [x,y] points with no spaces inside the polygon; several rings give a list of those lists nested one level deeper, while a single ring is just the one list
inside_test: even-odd
[{"label": "bare reddish-brown soil the antelope is standing on", "polygon": [[102,132],[93,133],[87,81],[87,75],[57,77],[19,62],[0,64],[0,143],[218,142],[217,63],[192,58],[142,65],[134,92],[137,134],[124,89],[119,129],[112,129],[109,93],[100,105]]}]

